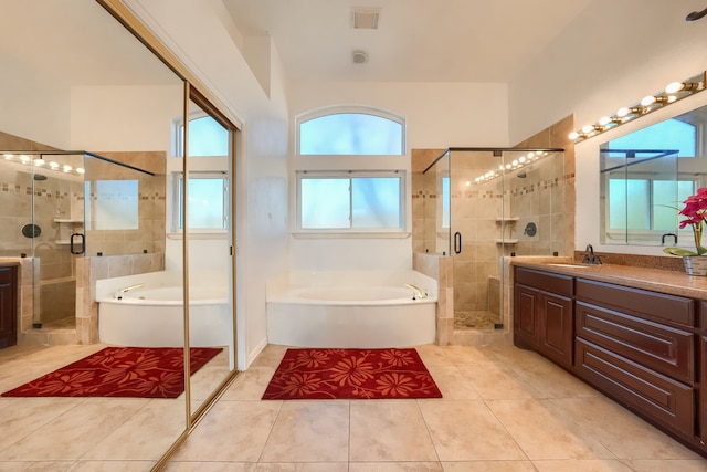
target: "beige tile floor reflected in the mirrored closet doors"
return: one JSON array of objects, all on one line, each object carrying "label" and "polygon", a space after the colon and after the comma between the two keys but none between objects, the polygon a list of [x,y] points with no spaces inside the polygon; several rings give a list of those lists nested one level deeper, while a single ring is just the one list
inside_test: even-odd
[{"label": "beige tile floor reflected in the mirrored closet doors", "polygon": [[[0,349],[0,392],[104,348]],[[192,376],[203,400],[228,371],[225,353]],[[184,430],[179,399],[0,397],[0,472],[149,471]]]}]

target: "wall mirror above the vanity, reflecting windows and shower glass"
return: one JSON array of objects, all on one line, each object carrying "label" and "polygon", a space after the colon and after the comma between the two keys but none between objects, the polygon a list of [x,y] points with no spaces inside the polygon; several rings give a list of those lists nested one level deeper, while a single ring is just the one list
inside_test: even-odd
[{"label": "wall mirror above the vanity, reflecting windows and shower glass", "polygon": [[680,247],[678,208],[705,186],[707,106],[600,145],[600,239]]}]

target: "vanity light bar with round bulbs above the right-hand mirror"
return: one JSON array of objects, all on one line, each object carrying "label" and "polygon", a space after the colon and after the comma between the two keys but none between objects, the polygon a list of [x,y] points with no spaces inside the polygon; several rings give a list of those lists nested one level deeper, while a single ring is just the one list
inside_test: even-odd
[{"label": "vanity light bar with round bulbs above the right-hand mirror", "polygon": [[654,95],[646,95],[636,104],[621,107],[615,114],[600,118],[597,124],[585,125],[581,129],[570,133],[569,138],[574,140],[574,143],[579,143],[600,135],[619,125],[631,122],[639,116],[647,115],[651,112],[701,92],[705,90],[706,83],[707,75],[705,72],[683,82],[672,82],[665,86],[665,91]]}]

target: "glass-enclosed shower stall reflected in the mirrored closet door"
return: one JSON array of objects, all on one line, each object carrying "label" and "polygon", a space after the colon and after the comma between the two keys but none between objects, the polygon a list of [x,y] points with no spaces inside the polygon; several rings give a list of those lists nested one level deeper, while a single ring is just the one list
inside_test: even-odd
[{"label": "glass-enclosed shower stall reflected in the mirrored closet door", "polygon": [[31,261],[32,314],[20,329],[75,329],[77,258],[156,250],[149,219],[163,228],[163,208],[144,201],[155,175],[86,151],[0,156],[0,258]]}]

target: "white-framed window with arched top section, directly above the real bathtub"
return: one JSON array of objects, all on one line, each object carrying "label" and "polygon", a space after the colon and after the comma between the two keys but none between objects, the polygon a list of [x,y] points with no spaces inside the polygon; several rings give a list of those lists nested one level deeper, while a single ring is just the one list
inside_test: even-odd
[{"label": "white-framed window with arched top section, directly above the real bathtub", "polygon": [[316,111],[297,122],[299,232],[404,230],[404,120],[368,107]]}]

